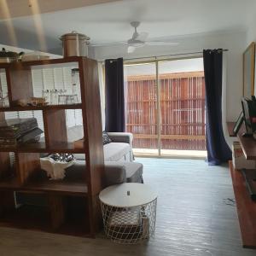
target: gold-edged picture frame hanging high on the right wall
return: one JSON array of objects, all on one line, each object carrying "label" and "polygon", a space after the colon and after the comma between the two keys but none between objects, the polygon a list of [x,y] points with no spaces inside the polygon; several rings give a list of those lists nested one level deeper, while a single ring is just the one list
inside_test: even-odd
[{"label": "gold-edged picture frame hanging high on the right wall", "polygon": [[251,43],[242,55],[243,59],[243,96],[255,95],[255,43]]}]

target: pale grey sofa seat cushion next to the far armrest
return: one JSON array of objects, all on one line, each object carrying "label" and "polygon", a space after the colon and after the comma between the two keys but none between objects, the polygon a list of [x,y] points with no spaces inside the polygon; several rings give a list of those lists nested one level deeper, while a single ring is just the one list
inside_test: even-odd
[{"label": "pale grey sofa seat cushion next to the far armrest", "polygon": [[108,143],[104,145],[103,150],[106,161],[118,161],[131,151],[131,146],[128,143]]}]

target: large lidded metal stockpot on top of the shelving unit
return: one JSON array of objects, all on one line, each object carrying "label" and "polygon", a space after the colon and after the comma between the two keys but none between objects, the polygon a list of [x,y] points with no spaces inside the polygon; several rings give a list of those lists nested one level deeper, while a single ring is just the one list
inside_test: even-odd
[{"label": "large lidded metal stockpot on top of the shelving unit", "polygon": [[78,32],[71,32],[61,36],[63,56],[84,56],[88,55],[88,44],[90,38]]}]

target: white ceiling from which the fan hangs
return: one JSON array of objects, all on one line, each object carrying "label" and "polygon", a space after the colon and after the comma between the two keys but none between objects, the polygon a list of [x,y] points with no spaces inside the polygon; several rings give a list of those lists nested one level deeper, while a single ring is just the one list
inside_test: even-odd
[{"label": "white ceiling from which the fan hangs", "polygon": [[[60,53],[61,34],[73,30],[92,44],[131,38],[131,20],[149,38],[175,40],[196,33],[245,30],[255,0],[124,0],[0,21],[0,44]],[[44,49],[46,48],[46,49]]]}]

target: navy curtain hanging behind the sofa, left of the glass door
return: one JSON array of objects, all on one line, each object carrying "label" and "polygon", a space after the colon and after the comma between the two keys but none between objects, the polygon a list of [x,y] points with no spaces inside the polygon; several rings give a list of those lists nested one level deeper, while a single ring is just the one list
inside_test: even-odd
[{"label": "navy curtain hanging behind the sofa, left of the glass door", "polygon": [[105,61],[106,131],[125,131],[124,61]]}]

